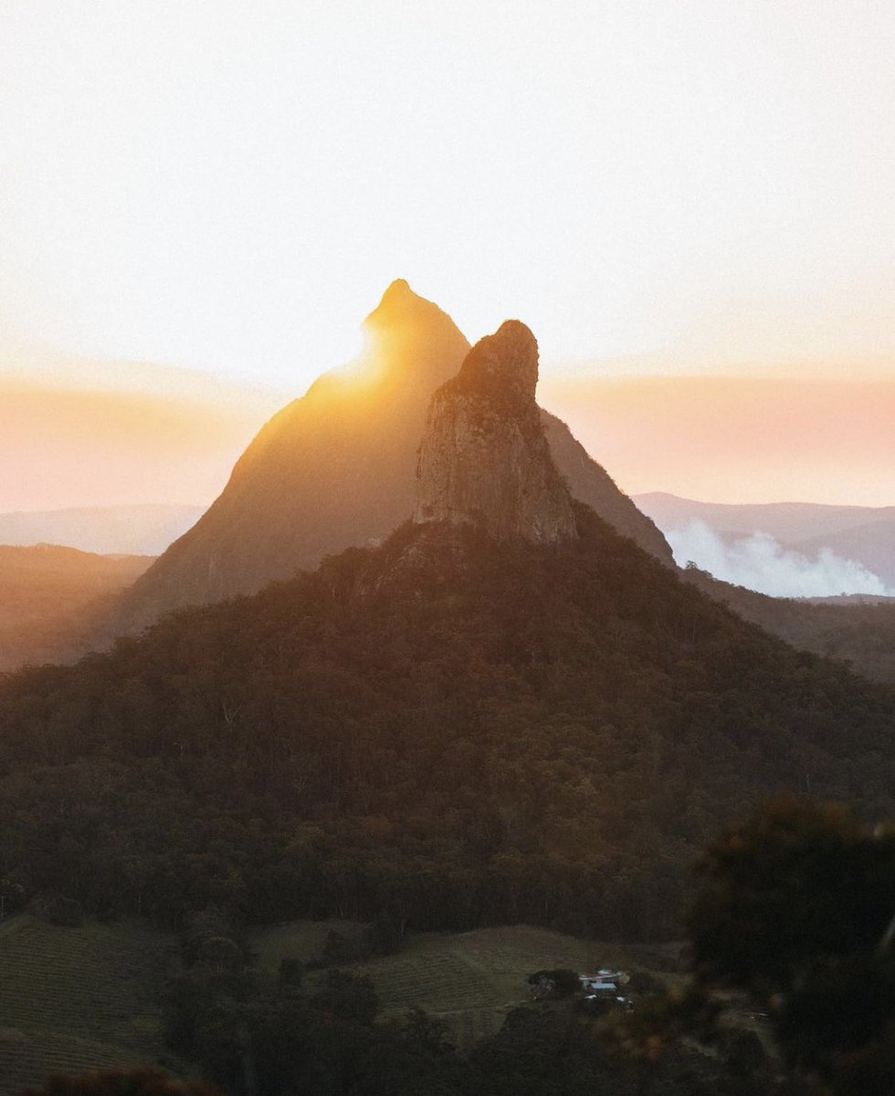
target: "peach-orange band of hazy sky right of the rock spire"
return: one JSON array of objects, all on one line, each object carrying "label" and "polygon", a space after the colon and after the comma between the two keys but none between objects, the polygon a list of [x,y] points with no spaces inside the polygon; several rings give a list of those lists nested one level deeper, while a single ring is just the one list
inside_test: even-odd
[{"label": "peach-orange band of hazy sky right of the rock spire", "polygon": [[895,502],[895,379],[544,378],[538,395],[629,494]]}]

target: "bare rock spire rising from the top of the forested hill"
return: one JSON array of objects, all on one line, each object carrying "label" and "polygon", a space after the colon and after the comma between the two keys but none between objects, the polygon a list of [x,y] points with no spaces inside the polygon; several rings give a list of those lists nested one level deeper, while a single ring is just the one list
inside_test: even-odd
[{"label": "bare rock spire rising from the top of the forested hill", "polygon": [[416,469],[414,521],[473,524],[498,539],[577,535],[535,402],[538,344],[507,320],[478,342],[432,398]]}]

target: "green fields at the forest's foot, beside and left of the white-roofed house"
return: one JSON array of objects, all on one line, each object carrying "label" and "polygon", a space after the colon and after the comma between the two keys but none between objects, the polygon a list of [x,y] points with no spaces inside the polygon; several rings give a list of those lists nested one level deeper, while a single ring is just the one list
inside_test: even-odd
[{"label": "green fields at the forest's foot, beside and left of the white-roofed house", "polygon": [[[333,922],[294,922],[264,929],[251,940],[255,961],[274,974],[287,956],[306,962],[314,959],[332,927],[351,931]],[[497,1031],[509,1009],[531,1000],[526,978],[536,970],[567,967],[585,972],[617,967],[645,970],[675,982],[675,975],[667,973],[673,951],[665,955],[659,949],[597,944],[517,925],[461,934],[423,933],[411,936],[393,956],[343,969],[370,977],[383,1017],[424,1008],[445,1024],[457,1046],[468,1049]]]}]

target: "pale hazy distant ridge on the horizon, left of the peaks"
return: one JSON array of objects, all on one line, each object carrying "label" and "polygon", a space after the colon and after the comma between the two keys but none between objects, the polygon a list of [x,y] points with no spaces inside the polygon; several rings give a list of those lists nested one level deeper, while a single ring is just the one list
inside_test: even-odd
[{"label": "pale hazy distant ridge on the horizon, left of the peaks", "polygon": [[102,555],[158,556],[202,513],[202,506],[146,503],[0,514],[0,545],[51,544]]}]

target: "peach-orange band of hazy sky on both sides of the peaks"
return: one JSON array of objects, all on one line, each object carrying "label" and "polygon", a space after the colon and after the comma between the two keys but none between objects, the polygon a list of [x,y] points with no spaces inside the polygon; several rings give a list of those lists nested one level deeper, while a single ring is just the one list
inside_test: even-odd
[{"label": "peach-orange band of hazy sky on both sides of the peaks", "polygon": [[[895,502],[895,381],[547,375],[538,398],[629,494]],[[287,399],[0,379],[0,512],[209,503]]]}]

